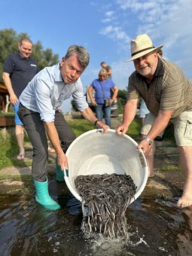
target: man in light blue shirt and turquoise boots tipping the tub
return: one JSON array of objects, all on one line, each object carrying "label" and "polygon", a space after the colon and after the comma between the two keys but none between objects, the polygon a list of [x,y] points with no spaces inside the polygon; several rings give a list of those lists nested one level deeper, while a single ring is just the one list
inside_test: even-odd
[{"label": "man in light blue shirt and turquoise boots tipping the tub", "polygon": [[65,152],[75,139],[75,134],[59,111],[62,102],[72,96],[78,110],[87,120],[105,131],[109,129],[96,119],[84,97],[80,76],[89,61],[89,53],[84,47],[70,46],[59,64],[38,72],[20,96],[18,114],[33,146],[32,175],[35,181],[35,200],[46,209],[57,210],[60,206],[48,193],[48,145],[45,130],[56,151],[57,163],[61,170],[68,169]]}]

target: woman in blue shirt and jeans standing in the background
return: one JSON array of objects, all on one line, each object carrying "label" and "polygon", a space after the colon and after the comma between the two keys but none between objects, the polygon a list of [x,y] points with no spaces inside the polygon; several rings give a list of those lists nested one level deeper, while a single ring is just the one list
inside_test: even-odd
[{"label": "woman in blue shirt and jeans standing in the background", "polygon": [[[95,91],[94,97],[93,90]],[[111,90],[113,90],[112,97]],[[93,106],[96,108],[96,117],[102,121],[104,116],[105,123],[111,127],[111,103],[117,98],[118,88],[111,79],[108,79],[106,69],[99,71],[99,78],[90,84],[87,91]]]}]

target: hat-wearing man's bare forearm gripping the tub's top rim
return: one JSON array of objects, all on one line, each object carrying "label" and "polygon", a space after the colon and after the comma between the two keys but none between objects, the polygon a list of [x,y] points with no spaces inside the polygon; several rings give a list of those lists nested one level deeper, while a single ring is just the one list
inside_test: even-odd
[{"label": "hat-wearing man's bare forearm gripping the tub's top rim", "polygon": [[117,134],[125,134],[128,130],[130,123],[133,121],[136,115],[138,99],[129,99],[126,102],[124,112],[123,112],[123,122],[120,126],[117,127]]}]

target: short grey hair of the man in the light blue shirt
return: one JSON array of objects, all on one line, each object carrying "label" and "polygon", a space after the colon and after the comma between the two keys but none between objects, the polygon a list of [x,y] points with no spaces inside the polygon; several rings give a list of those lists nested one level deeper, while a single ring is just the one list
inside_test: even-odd
[{"label": "short grey hair of the man in the light blue shirt", "polygon": [[83,46],[73,44],[67,49],[65,59],[68,59],[73,53],[77,54],[78,62],[85,69],[90,62],[90,54],[88,51]]}]

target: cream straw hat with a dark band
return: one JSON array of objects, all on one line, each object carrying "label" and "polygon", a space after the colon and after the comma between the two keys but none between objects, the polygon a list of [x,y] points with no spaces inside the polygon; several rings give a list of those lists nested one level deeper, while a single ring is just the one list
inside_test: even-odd
[{"label": "cream straw hat with a dark band", "polygon": [[159,47],[154,47],[151,38],[147,34],[138,35],[136,39],[131,41],[131,59],[127,60],[126,62],[137,59],[141,56],[144,56],[147,53],[155,52],[160,50],[163,45]]}]

